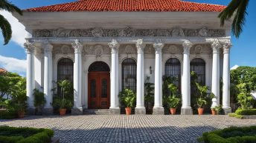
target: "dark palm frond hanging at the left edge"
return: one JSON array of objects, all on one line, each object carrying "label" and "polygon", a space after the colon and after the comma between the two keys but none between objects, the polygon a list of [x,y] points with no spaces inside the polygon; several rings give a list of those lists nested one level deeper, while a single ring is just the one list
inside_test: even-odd
[{"label": "dark palm frond hanging at the left edge", "polygon": [[1,16],[1,15],[0,15],[0,29],[1,29],[1,33],[4,36],[4,45],[8,44],[8,42],[10,41],[10,38],[12,37],[12,29],[7,19],[5,19],[4,16]]}]

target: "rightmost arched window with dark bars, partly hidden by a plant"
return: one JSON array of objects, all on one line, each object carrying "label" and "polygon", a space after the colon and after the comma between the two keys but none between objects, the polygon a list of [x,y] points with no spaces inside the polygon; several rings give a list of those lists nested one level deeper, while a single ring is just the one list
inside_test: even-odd
[{"label": "rightmost arched window with dark bars, partly hidden by a plant", "polygon": [[193,59],[191,61],[191,71],[197,75],[197,82],[205,85],[205,61],[203,59]]}]

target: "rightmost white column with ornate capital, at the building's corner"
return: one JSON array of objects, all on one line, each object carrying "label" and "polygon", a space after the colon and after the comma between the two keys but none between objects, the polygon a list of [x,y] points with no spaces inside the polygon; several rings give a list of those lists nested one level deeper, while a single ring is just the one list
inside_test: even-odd
[{"label": "rightmost white column with ornate capital, at the building's corner", "polygon": [[223,44],[223,110],[225,114],[231,113],[230,107],[230,52],[231,42]]}]

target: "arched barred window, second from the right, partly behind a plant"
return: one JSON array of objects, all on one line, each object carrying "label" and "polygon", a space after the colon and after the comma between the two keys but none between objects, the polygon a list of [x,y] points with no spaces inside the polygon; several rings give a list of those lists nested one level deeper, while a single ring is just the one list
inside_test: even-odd
[{"label": "arched barred window, second from the right, partly behind a plant", "polygon": [[175,78],[176,81],[174,84],[176,84],[177,87],[181,86],[181,64],[179,59],[170,58],[166,61],[164,65],[164,75]]}]

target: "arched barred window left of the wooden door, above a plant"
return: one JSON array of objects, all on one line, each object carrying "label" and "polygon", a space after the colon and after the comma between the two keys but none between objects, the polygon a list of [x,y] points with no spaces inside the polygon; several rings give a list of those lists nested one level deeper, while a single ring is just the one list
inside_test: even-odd
[{"label": "arched barred window left of the wooden door, above a plant", "polygon": [[70,82],[73,82],[74,62],[68,58],[60,59],[57,72],[58,81],[68,79]]}]

